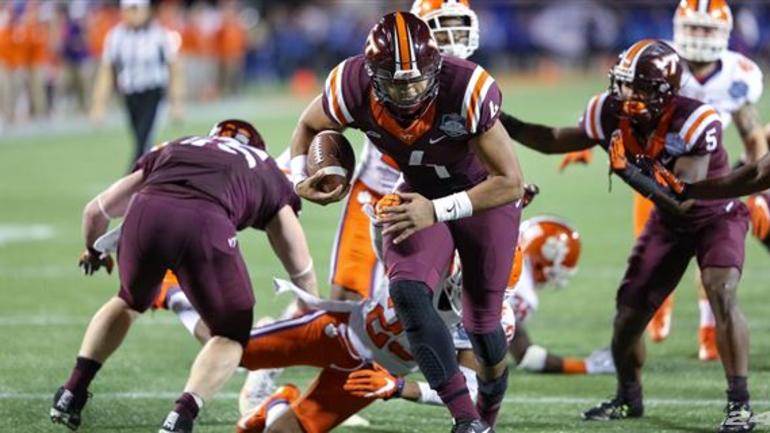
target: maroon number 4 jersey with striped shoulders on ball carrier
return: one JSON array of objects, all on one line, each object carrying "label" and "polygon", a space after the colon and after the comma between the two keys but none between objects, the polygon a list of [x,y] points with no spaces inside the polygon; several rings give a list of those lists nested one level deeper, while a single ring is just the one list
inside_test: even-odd
[{"label": "maroon number 4 jersey with striped shoulders on ball carrier", "polygon": [[466,190],[488,176],[468,142],[494,125],[502,102],[495,80],[481,66],[443,59],[436,100],[406,127],[377,101],[362,55],[337,65],[323,92],[326,115],[364,132],[396,162],[408,188],[428,198]]}]

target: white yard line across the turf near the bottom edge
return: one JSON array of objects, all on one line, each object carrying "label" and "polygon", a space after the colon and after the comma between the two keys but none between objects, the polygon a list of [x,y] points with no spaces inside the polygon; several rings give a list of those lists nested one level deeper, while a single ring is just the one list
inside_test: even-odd
[{"label": "white yard line across the turf near the bottom edge", "polygon": [[[0,400],[50,400],[51,393],[15,393],[15,392],[0,392]],[[168,400],[179,397],[179,391],[176,392],[106,392],[99,393],[99,400]],[[239,397],[237,392],[223,392],[217,394],[217,399],[237,400]],[[527,397],[527,396],[511,396],[506,397],[503,402],[506,404],[519,404],[519,405],[542,405],[542,404],[559,404],[559,405],[592,405],[596,404],[600,398],[589,397],[569,397],[569,396],[552,396],[552,397]],[[768,406],[770,400],[753,400],[752,406]],[[644,400],[645,406],[723,406],[725,404],[724,399],[720,398],[647,398]]]}]

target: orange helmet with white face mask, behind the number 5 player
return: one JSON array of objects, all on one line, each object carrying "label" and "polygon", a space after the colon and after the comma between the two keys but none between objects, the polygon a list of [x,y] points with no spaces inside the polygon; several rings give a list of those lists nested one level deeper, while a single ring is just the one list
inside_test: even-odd
[{"label": "orange helmet with white face mask, behind the number 5 player", "polygon": [[715,62],[727,50],[733,14],[725,0],[682,0],[674,13],[674,44],[693,62]]}]

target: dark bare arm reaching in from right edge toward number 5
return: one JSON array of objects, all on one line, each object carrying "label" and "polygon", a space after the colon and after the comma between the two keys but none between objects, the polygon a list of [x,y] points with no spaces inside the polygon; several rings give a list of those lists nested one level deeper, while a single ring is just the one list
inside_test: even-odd
[{"label": "dark bare arm reaching in from right edge toward number 5", "polygon": [[686,198],[717,199],[740,197],[770,188],[770,154],[759,161],[722,177],[711,178],[687,185]]}]

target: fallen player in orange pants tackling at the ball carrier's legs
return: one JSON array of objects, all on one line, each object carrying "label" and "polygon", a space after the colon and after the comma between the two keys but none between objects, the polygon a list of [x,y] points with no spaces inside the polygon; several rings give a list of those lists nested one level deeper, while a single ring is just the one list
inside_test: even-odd
[{"label": "fallen player in orange pants tackling at the ball carrier's legs", "polygon": [[[520,272],[521,255],[511,269],[512,284]],[[460,280],[457,275],[455,272],[452,278],[442,281],[442,289],[433,295],[433,305],[444,326],[452,332],[457,361],[475,397],[477,364],[467,333],[459,323],[461,307],[454,297],[459,292],[453,290]],[[416,371],[417,365],[395,314],[387,283],[362,301],[321,300],[280,280],[276,280],[276,288],[279,293],[293,293],[313,311],[252,329],[241,360],[241,366],[252,372],[241,391],[243,417],[237,423],[238,432],[328,432],[376,399],[404,398],[442,404],[427,383],[404,379]],[[178,308],[196,316],[184,294],[171,297]],[[501,326],[509,342],[515,333],[512,304],[505,299],[502,305]],[[200,318],[197,322],[201,322]],[[267,398],[260,398],[265,388],[262,381],[274,379],[258,376],[263,370],[296,365],[322,369],[305,395],[300,397],[299,389],[288,384]],[[260,379],[252,380],[255,377]]]}]

